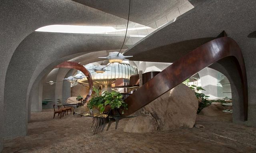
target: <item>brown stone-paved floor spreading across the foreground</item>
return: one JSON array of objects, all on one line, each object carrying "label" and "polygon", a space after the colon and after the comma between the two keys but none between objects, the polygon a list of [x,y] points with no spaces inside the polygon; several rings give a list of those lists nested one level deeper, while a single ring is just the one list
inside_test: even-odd
[{"label": "brown stone-paved floor spreading across the foreground", "polygon": [[76,115],[54,118],[53,110],[32,113],[28,135],[4,140],[2,153],[256,153],[256,128],[234,125],[232,116],[199,115],[205,128],[152,133],[117,130],[91,135],[92,118]]}]

